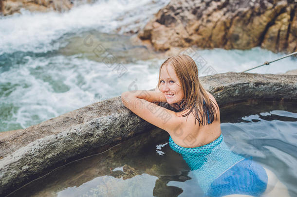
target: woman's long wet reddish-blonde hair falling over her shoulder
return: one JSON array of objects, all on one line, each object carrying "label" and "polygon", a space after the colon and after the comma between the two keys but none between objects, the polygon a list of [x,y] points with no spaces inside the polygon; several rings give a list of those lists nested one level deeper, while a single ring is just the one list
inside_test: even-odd
[{"label": "woman's long wet reddish-blonde hair falling over her shoulder", "polygon": [[[184,99],[182,100],[180,107],[182,111],[190,109],[183,117],[188,116],[191,112],[195,116],[195,125],[196,120],[199,125],[207,124],[208,115],[209,121],[212,123],[215,119],[217,105],[209,99],[206,90],[202,87],[198,78],[198,69],[194,60],[186,54],[179,54],[169,57],[160,67],[159,70],[159,83],[158,88],[160,90],[160,75],[161,69],[164,66],[171,65],[174,68],[174,71],[181,82],[182,89],[184,91]],[[205,105],[203,105],[205,101]],[[212,103],[211,103],[212,102]],[[218,108],[218,107],[217,107]],[[200,115],[199,115],[200,114]],[[201,118],[200,118],[201,117]],[[216,119],[217,119],[216,114]],[[205,122],[206,121],[206,122]]]}]

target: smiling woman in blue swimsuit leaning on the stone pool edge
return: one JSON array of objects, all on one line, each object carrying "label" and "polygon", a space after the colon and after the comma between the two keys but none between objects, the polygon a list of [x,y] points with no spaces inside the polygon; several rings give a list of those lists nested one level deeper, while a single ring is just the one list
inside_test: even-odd
[{"label": "smiling woman in blue swimsuit leaning on the stone pool edge", "polygon": [[127,91],[121,99],[133,113],[169,133],[170,147],[183,156],[206,196],[289,196],[271,171],[234,154],[223,142],[219,106],[199,82],[190,56],[169,57],[154,91]]}]

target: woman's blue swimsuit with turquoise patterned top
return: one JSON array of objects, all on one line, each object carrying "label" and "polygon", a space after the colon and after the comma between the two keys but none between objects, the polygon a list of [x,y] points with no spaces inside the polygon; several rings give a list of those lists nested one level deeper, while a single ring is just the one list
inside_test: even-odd
[{"label": "woman's blue swimsuit with turquoise patterned top", "polygon": [[170,136],[169,146],[183,156],[206,196],[260,196],[266,189],[268,177],[264,168],[230,151],[222,134],[215,141],[195,148],[179,146]]}]

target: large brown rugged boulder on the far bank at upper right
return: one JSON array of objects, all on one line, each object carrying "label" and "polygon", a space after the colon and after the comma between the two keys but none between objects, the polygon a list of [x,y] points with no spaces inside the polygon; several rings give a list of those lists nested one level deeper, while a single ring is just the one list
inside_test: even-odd
[{"label": "large brown rugged boulder on the far bank at upper right", "polygon": [[297,50],[295,0],[171,0],[138,36],[158,51],[172,47]]}]

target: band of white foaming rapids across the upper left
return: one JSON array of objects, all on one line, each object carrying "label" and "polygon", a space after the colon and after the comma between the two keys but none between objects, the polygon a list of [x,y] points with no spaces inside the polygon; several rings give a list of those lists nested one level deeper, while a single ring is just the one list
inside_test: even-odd
[{"label": "band of white foaming rapids across the upper left", "polygon": [[[161,0],[154,4],[150,3],[151,0],[100,0],[94,4],[74,7],[64,13],[31,13],[21,9],[21,14],[0,18],[0,54],[14,51],[53,51],[60,46],[54,41],[66,33],[88,29],[109,33],[138,19],[145,25],[152,13],[167,1]],[[141,12],[145,8],[148,12]],[[123,19],[119,20],[121,16]],[[130,28],[133,28],[133,24]]]}]

